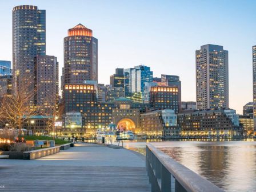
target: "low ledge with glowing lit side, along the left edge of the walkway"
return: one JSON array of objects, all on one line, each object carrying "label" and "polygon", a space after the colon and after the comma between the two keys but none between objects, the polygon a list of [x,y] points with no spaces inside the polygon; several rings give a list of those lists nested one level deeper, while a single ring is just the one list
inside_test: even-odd
[{"label": "low ledge with glowing lit side, along the left edge of the walkway", "polygon": [[45,149],[38,149],[34,151],[25,151],[23,152],[23,159],[25,160],[31,160],[31,159],[38,159],[41,157],[45,157],[47,155],[51,155],[54,153],[59,153],[59,150],[61,147],[49,147]]}]

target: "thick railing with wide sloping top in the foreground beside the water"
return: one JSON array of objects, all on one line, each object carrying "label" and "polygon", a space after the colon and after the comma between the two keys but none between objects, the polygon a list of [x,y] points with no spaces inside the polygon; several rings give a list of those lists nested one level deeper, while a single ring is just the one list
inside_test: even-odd
[{"label": "thick railing with wide sloping top in the foreground beside the water", "polygon": [[151,191],[223,191],[151,144],[146,145],[146,167],[147,174],[149,175],[149,182],[151,183]]}]

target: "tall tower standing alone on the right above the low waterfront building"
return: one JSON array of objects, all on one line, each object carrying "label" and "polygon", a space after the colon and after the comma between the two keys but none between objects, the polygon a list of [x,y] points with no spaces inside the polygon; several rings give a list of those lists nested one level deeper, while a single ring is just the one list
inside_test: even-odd
[{"label": "tall tower standing alone on the right above the low waterfront building", "polygon": [[219,45],[195,51],[197,109],[229,108],[229,56]]}]

